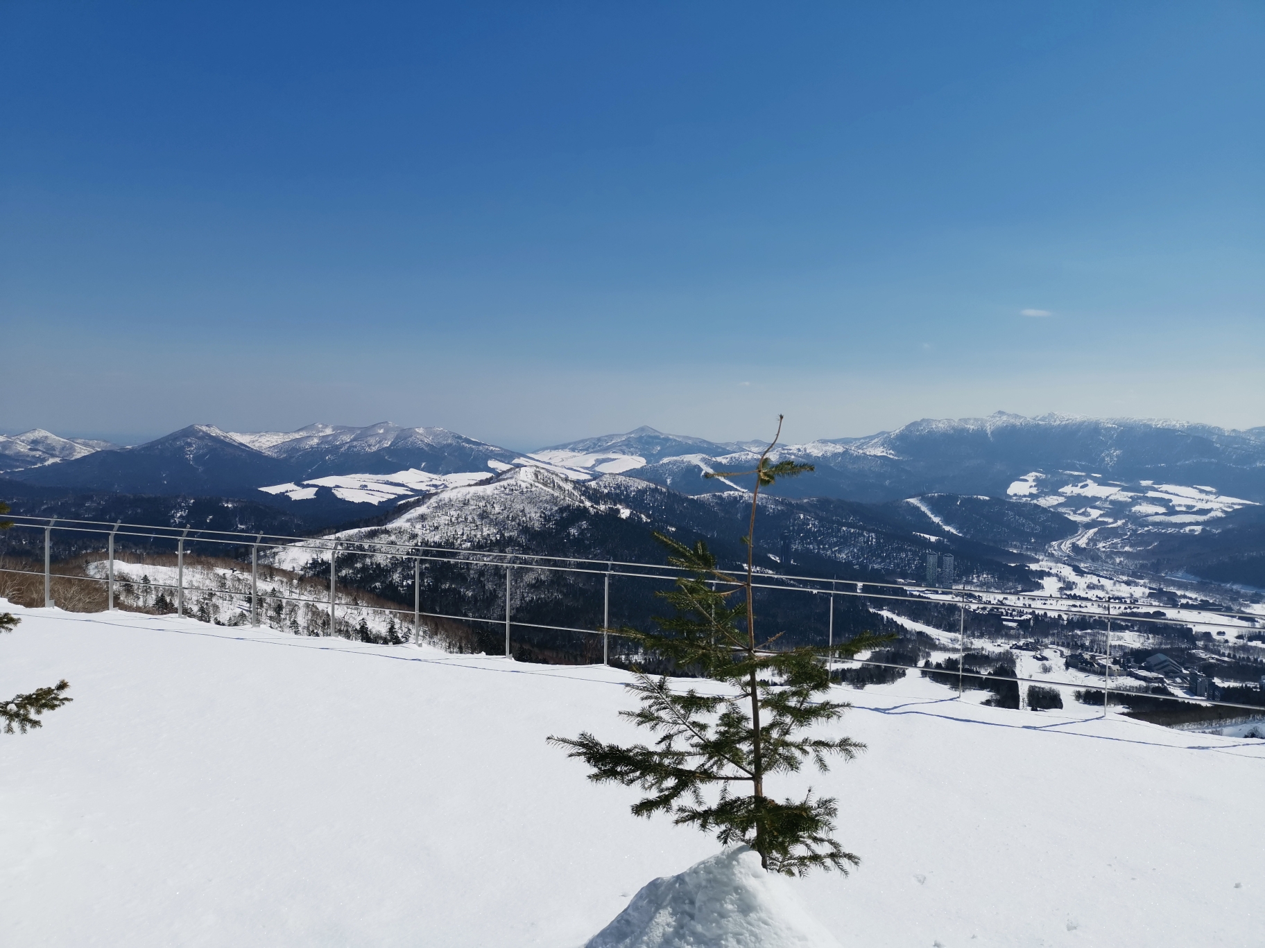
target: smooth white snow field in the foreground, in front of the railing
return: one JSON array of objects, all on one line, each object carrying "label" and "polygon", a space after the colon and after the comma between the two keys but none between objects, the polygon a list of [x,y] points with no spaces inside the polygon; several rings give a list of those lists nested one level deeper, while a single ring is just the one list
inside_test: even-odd
[{"label": "smooth white snow field in the foreground, in front of the railing", "polygon": [[[545,746],[631,737],[622,672],[13,611],[0,694],[75,702],[0,736],[0,944],[567,948],[719,848]],[[789,882],[842,945],[1265,943],[1265,741],[850,698],[812,784],[863,862]]]}]

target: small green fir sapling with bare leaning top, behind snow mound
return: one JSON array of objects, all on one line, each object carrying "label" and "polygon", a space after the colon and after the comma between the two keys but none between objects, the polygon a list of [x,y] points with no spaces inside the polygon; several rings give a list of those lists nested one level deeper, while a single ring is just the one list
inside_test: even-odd
[{"label": "small green fir sapling with bare leaning top, behind snow mound", "polygon": [[[778,435],[782,417],[778,417]],[[834,838],[837,804],[831,798],[781,803],[765,793],[765,779],[798,771],[811,761],[829,770],[827,757],[851,760],[864,744],[849,737],[808,736],[815,726],[837,719],[849,707],[827,699],[829,655],[853,656],[891,636],[864,633],[824,648],[773,650],[781,637],[759,640],[755,632],[755,514],[760,488],[778,478],[812,470],[792,461],[772,463],[764,449],[748,471],[716,471],[707,477],[754,475],[746,545],[745,578],[719,568],[705,542],[687,546],[663,533],[668,561],[686,573],[676,586],[659,593],[676,616],[655,618],[659,631],[611,629],[639,642],[648,652],[670,659],[679,669],[725,683],[722,694],[676,691],[667,676],[636,674],[627,685],[641,707],[621,712],[658,738],[654,746],[603,743],[588,732],[576,738],[550,737],[583,760],[595,782],[639,786],[649,795],[632,806],[638,817],[664,813],[678,824],[715,833],[722,844],[745,843],[760,854],[765,870],[803,875],[811,868],[848,871],[859,858]]]}]

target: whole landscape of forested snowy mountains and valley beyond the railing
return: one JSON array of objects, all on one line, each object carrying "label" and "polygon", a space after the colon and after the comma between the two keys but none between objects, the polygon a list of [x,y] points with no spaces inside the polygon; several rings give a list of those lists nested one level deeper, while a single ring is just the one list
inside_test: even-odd
[{"label": "whole landscape of forested snowy mountains and valley beyond the railing", "polygon": [[[1028,704],[1031,688],[1054,700],[1040,693],[1055,686],[1060,703],[1106,690],[1174,724],[1254,719],[1199,702],[1262,704],[1265,445],[1209,431],[998,415],[777,446],[815,470],[762,498],[760,614],[784,646],[892,635],[869,664],[837,669],[859,686],[918,667],[1004,707]],[[48,458],[0,482],[18,520],[0,573],[14,602],[42,603],[43,526],[57,518],[51,598],[72,609],[102,608],[113,575],[115,605],[151,614],[622,667],[648,659],[600,629],[662,612],[655,532],[744,568],[748,484],[702,475],[745,470],[763,450],[653,428],[531,453],[392,425],[195,426],[61,455],[52,437],[28,437],[19,460],[32,445]],[[1175,483],[1195,470],[1217,477]],[[899,495],[917,479],[973,492]],[[113,522],[143,526],[116,530],[111,570]],[[1166,674],[1147,667],[1155,655]]]}]

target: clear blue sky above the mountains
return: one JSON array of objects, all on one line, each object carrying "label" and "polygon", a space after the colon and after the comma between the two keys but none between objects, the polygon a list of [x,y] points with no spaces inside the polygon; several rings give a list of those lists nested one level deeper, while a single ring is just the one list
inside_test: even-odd
[{"label": "clear blue sky above the mountains", "polygon": [[1265,425],[1262,40],[1257,3],[6,3],[0,427]]}]

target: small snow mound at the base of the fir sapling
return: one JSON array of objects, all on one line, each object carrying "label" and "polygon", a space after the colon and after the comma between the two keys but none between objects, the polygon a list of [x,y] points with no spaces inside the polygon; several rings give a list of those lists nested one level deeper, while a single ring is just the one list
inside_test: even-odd
[{"label": "small snow mound at the base of the fir sapling", "polygon": [[657,878],[584,948],[840,948],[745,846]]}]

